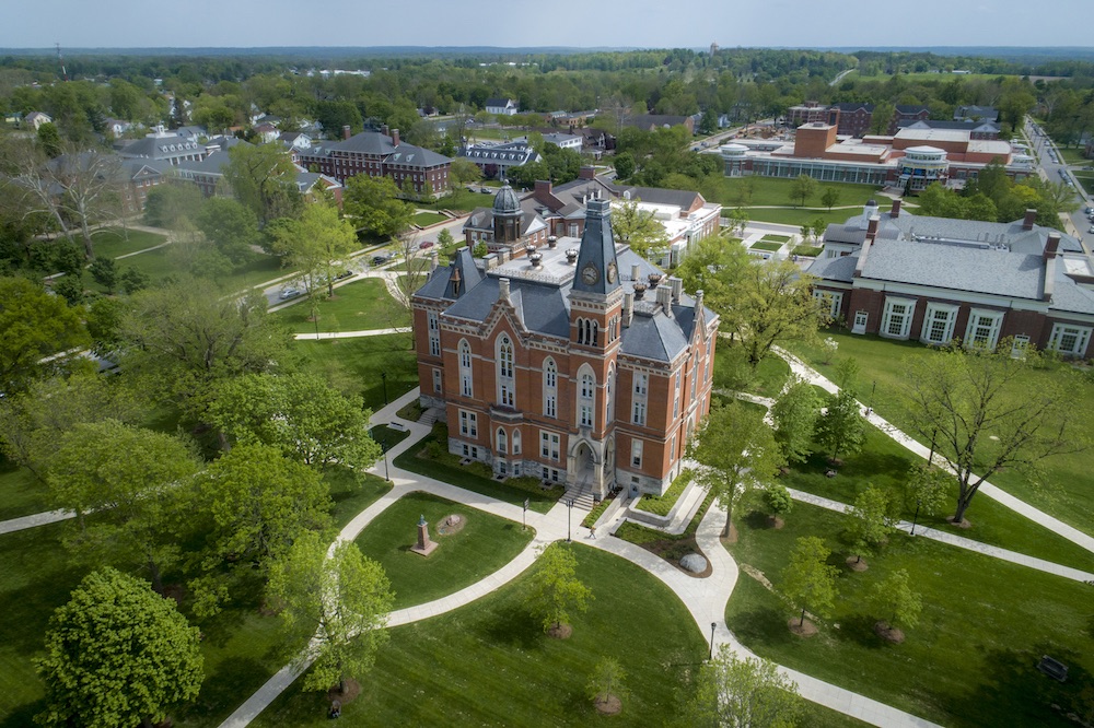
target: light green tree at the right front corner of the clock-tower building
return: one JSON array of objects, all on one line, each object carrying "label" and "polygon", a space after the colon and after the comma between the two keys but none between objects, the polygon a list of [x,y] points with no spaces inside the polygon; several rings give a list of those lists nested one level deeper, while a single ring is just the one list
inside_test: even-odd
[{"label": "light green tree at the right front corner of the clock-tower building", "polygon": [[775,477],[782,456],[775,434],[764,422],[764,413],[746,408],[740,400],[711,408],[689,445],[690,456],[699,462],[695,479],[725,508],[725,528],[730,535],[733,506],[756,482]]}]

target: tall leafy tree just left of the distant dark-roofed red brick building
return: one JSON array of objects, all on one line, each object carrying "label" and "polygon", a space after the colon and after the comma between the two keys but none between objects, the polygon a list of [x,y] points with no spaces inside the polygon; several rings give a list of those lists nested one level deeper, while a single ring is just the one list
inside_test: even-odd
[{"label": "tall leafy tree just left of the distant dark-roofed red brick building", "polygon": [[280,144],[237,144],[228,155],[224,179],[259,222],[300,214],[304,202],[288,150]]}]

